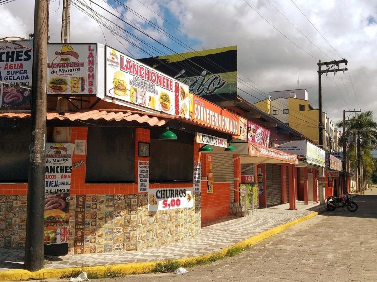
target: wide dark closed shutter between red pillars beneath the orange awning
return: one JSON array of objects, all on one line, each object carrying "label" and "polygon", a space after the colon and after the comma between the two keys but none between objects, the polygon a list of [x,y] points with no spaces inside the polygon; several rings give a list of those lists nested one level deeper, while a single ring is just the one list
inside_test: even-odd
[{"label": "wide dark closed shutter between red pillars beneath the orange awning", "polygon": [[279,205],[282,203],[282,176],[281,166],[266,164],[267,180],[267,206]]}]

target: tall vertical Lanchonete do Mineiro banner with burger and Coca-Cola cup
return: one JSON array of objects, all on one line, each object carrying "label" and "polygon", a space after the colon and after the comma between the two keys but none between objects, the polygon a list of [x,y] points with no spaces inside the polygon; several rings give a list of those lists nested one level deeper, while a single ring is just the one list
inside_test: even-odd
[{"label": "tall vertical Lanchonete do Mineiro banner with burger and Coca-Cola cup", "polygon": [[74,144],[46,143],[44,245],[68,243]]}]

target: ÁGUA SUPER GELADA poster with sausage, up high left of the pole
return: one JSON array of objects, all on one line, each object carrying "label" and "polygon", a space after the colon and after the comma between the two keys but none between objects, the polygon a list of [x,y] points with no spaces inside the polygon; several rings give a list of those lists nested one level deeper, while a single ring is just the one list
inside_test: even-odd
[{"label": "\u00c1GUA SUPER GELADA poster with sausage, up high left of the pole", "polygon": [[[33,47],[32,40],[14,42],[29,48]],[[29,108],[33,51],[0,41],[0,57],[0,81],[11,84],[0,83],[0,108]]]}]

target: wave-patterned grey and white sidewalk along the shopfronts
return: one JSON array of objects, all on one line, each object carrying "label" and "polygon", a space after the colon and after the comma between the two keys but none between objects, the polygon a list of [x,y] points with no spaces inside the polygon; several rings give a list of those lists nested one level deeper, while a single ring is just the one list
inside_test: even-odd
[{"label": "wave-patterned grey and white sidewalk along the shopfronts", "polygon": [[[307,210],[258,209],[248,217],[228,215],[202,222],[198,238],[141,251],[54,257],[55,261],[46,262],[45,269],[188,259],[211,254],[235,244],[255,244],[316,214],[317,212]],[[22,269],[23,255],[20,250],[0,249],[0,270]]]}]

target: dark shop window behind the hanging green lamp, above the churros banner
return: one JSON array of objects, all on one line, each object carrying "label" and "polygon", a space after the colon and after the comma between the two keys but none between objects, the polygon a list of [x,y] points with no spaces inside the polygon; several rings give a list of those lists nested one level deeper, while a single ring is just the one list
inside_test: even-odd
[{"label": "dark shop window behind the hanging green lamp, above the churros banner", "polygon": [[158,140],[163,131],[150,131],[149,182],[193,182],[194,135],[173,130],[178,140]]}]

